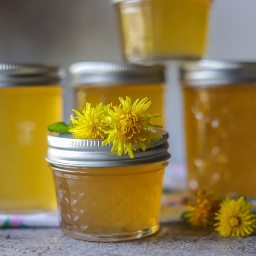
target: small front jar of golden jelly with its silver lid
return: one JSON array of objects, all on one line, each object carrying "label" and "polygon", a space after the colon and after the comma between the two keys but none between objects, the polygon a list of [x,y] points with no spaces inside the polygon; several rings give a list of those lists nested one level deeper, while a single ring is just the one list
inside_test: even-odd
[{"label": "small front jar of golden jelly with its silver lid", "polygon": [[134,159],[101,140],[48,135],[62,231],[88,241],[126,241],[159,229],[168,134]]}]

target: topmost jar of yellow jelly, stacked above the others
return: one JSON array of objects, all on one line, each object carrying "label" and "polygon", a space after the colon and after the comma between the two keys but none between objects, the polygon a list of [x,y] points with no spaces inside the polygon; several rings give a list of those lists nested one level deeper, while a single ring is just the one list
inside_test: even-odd
[{"label": "topmost jar of yellow jelly, stacked above the others", "polygon": [[211,0],[113,0],[131,62],[201,59]]}]

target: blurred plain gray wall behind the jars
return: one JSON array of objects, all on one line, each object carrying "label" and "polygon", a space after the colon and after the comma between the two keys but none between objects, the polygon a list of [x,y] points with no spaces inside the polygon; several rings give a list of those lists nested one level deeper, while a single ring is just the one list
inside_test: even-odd
[{"label": "blurred plain gray wall behind the jars", "polygon": [[[255,0],[213,1],[209,58],[256,60],[255,10]],[[76,61],[119,60],[120,40],[110,0],[0,0],[0,61],[67,69]],[[168,67],[170,151],[172,162],[182,162],[181,94],[175,65]],[[67,121],[74,102],[69,77],[64,87]]]}]

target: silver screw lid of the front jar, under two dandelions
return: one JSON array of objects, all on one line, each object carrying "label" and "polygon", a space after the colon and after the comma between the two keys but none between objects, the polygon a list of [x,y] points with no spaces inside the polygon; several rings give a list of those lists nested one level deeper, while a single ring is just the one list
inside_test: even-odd
[{"label": "silver screw lid of the front jar, under two dandelions", "polygon": [[111,152],[112,145],[102,146],[103,140],[74,139],[71,135],[48,135],[47,162],[61,166],[73,167],[117,167],[143,165],[167,160],[168,133],[158,131],[163,135],[160,141],[153,141],[153,148],[145,152],[137,150],[134,158],[128,155],[118,156]]}]

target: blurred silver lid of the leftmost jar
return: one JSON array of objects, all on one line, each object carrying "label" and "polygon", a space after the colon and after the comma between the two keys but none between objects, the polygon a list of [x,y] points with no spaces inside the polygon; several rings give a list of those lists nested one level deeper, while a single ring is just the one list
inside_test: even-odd
[{"label": "blurred silver lid of the leftmost jar", "polygon": [[50,85],[63,77],[64,71],[53,66],[0,63],[0,87]]}]

